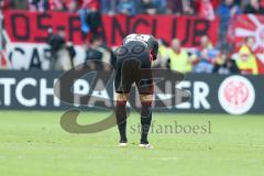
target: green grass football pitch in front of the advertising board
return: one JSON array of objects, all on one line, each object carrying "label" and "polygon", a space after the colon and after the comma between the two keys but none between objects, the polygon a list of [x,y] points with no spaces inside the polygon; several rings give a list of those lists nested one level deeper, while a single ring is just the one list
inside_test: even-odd
[{"label": "green grass football pitch in front of the advertising board", "polygon": [[[154,150],[138,147],[140,134],[129,119],[130,145],[117,147],[118,131],[69,134],[63,112],[0,111],[0,176],[263,176],[264,117],[154,113],[155,124],[202,125],[211,133],[157,133]],[[106,112],[84,112],[79,123]]]}]

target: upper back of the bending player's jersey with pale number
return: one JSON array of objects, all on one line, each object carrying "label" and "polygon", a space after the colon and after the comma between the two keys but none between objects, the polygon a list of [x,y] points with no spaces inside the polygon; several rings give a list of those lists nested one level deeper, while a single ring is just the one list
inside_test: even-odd
[{"label": "upper back of the bending player's jersey with pale number", "polygon": [[158,53],[158,43],[154,36],[147,34],[130,34],[123,40],[123,45],[125,46],[129,42],[132,41],[139,41],[146,44],[151,53],[152,61],[156,59]]}]

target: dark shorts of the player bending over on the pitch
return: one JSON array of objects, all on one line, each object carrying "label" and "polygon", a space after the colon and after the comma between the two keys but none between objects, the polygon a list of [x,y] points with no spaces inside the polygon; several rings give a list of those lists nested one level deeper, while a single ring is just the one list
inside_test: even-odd
[{"label": "dark shorts of the player bending over on the pitch", "polygon": [[143,42],[132,41],[120,46],[117,50],[116,92],[129,94],[135,82],[140,95],[153,95],[151,64],[150,51]]}]

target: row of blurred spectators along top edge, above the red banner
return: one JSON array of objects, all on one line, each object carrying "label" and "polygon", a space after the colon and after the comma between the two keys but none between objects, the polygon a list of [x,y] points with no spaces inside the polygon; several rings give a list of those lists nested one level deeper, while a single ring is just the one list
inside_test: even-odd
[{"label": "row of blurred spectators along top edge, above the red banner", "polygon": [[102,13],[188,14],[213,19],[235,13],[264,13],[264,0],[0,0],[2,9],[68,11],[97,9]]}]

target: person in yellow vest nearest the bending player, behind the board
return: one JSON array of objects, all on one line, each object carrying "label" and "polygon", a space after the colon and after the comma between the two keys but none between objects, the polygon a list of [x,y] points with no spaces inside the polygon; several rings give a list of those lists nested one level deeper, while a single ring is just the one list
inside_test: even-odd
[{"label": "person in yellow vest nearest the bending player, behind the board", "polygon": [[182,48],[179,40],[175,38],[172,42],[172,48],[168,51],[169,68],[183,74],[193,70],[193,61],[188,53]]}]

